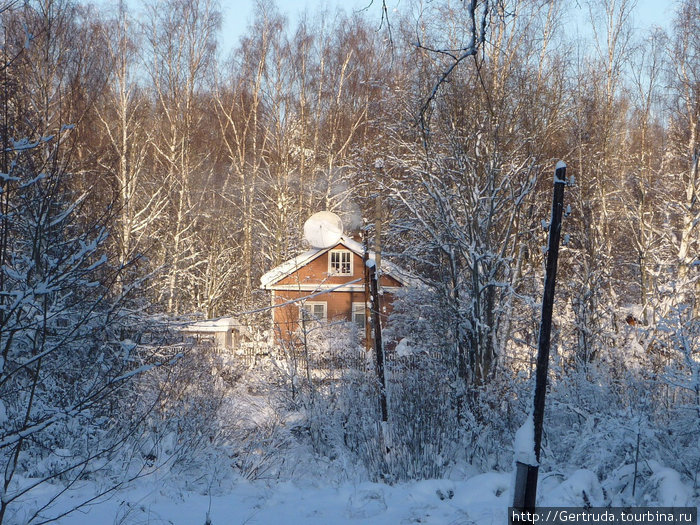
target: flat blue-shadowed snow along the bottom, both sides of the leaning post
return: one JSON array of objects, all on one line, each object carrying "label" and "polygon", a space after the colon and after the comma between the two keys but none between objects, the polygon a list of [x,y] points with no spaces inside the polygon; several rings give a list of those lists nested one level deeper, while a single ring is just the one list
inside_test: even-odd
[{"label": "flat blue-shadowed snow along the bottom, both sides of the leaning post", "polygon": [[[658,500],[649,505],[697,506],[692,490],[675,471],[658,467],[655,480]],[[243,524],[462,524],[502,525],[512,501],[511,473],[490,472],[466,480],[424,480],[386,485],[322,479],[247,482],[201,490],[175,488],[157,475],[143,478],[129,488],[114,492],[70,513],[60,525],[243,525]],[[605,506],[605,484],[588,470],[577,470],[562,479],[541,475],[538,503],[543,506]],[[89,499],[96,485],[83,483],[71,489],[52,514],[74,508]],[[52,495],[47,485],[34,494],[14,518],[36,508]],[[207,519],[209,521],[207,521]]]}]

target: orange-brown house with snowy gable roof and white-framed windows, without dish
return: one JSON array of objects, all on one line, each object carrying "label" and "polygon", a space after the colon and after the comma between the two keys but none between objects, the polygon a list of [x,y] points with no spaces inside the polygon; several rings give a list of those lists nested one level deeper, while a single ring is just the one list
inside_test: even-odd
[{"label": "orange-brown house with snowy gable roof and white-framed windows, without dish", "polygon": [[[301,315],[313,322],[352,321],[360,333],[369,335],[363,252],[361,243],[343,235],[330,247],[311,248],[261,277],[261,288],[272,292],[271,304],[282,305],[272,309],[278,341],[293,340]],[[368,259],[374,261],[373,252]],[[381,262],[380,274],[380,308],[385,322],[394,294],[408,282],[399,268],[386,260]]]}]

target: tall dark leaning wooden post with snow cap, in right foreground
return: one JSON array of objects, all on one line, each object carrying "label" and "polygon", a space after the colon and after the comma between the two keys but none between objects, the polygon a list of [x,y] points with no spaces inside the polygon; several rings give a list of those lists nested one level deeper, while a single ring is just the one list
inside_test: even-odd
[{"label": "tall dark leaning wooden post with snow cap, in right foreground", "polygon": [[[515,491],[513,507],[532,509],[537,498],[537,474],[542,445],[542,425],[544,422],[544,398],[547,391],[547,371],[549,369],[549,344],[552,331],[552,310],[554,307],[554,285],[559,258],[559,238],[563,214],[564,186],[566,185],[566,164],[557,162],[554,171],[554,191],[552,195],[552,217],[549,222],[549,246],[547,248],[547,268],[542,298],[542,322],[540,324],[537,348],[537,369],[535,371],[535,398],[533,405],[534,447],[537,465],[516,462]],[[529,416],[528,416],[529,417]]]}]

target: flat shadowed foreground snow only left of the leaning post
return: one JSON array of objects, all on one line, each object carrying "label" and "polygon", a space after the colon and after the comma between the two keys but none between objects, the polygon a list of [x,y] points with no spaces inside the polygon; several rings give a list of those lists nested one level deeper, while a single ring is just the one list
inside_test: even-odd
[{"label": "flat shadowed foreground snow only left of the leaning post", "polygon": [[[73,512],[58,523],[204,525],[208,514],[212,525],[501,525],[506,522],[512,498],[510,483],[509,474],[497,473],[466,481],[428,480],[393,486],[369,482],[339,486],[317,482],[241,482],[230,493],[210,498],[174,491],[167,483],[150,479]],[[74,490],[61,502],[61,508],[77,504],[91,488],[83,485]],[[43,496],[48,496],[48,491]]]}]

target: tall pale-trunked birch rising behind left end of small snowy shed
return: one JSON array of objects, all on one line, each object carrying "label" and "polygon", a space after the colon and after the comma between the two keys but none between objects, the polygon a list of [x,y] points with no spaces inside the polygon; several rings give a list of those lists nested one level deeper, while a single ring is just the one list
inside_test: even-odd
[{"label": "tall pale-trunked birch rising behind left end of small snowy shed", "polygon": [[[220,13],[214,0],[168,0],[148,6],[148,62],[158,115],[152,140],[157,168],[169,189],[168,223],[163,231],[160,260],[167,266],[160,298],[167,311],[179,313],[191,287],[183,279],[194,272],[197,213],[210,172],[206,152],[194,145],[203,112],[199,95],[211,71]],[[183,304],[185,303],[185,304]]]}]

